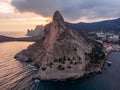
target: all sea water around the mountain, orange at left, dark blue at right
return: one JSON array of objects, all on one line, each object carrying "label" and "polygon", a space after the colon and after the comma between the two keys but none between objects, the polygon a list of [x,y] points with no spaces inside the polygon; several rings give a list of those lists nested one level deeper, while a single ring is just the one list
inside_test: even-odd
[{"label": "all sea water around the mountain, orange at left, dark blue at right", "polygon": [[36,71],[28,63],[13,59],[29,44],[0,43],[0,90],[120,90],[120,52],[109,55],[112,66],[106,66],[102,74],[72,82],[34,82],[31,77]]}]

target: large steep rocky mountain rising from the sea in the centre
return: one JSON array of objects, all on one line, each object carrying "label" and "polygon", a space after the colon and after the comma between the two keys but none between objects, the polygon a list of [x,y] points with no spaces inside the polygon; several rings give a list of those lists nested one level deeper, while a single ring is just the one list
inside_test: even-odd
[{"label": "large steep rocky mountain rising from the sea in the centre", "polygon": [[34,78],[40,80],[77,79],[101,72],[104,64],[102,45],[84,38],[66,26],[56,11],[53,21],[45,26],[44,37],[15,55],[20,61],[31,61],[39,68]]}]

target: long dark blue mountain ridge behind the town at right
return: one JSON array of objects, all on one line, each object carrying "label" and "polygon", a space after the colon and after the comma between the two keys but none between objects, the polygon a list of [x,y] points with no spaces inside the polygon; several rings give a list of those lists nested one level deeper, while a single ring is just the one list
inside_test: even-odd
[{"label": "long dark blue mountain ridge behind the town at right", "polygon": [[120,18],[114,20],[106,20],[94,23],[67,23],[66,25],[72,29],[80,32],[92,32],[92,31],[114,31],[115,33],[120,32]]}]

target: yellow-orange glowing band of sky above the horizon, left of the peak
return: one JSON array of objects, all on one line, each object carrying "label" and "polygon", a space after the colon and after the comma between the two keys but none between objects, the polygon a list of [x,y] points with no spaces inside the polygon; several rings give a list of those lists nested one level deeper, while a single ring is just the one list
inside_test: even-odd
[{"label": "yellow-orange glowing band of sky above the horizon, left of the peak", "polygon": [[33,13],[14,13],[9,15],[8,18],[8,15],[0,18],[0,31],[25,32],[28,28],[34,29],[36,25],[45,25],[51,21],[49,17],[45,18]]}]

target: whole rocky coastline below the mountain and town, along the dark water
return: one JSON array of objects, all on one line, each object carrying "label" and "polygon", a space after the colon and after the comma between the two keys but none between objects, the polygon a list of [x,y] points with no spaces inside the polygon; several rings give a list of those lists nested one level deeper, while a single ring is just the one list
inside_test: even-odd
[{"label": "whole rocky coastline below the mountain and town, along the dark water", "polygon": [[[67,81],[67,80],[76,80],[76,79],[80,79],[80,78],[84,78],[84,77],[90,77],[94,74],[100,74],[104,71],[104,66],[108,61],[108,55],[112,52],[117,52],[120,51],[120,48],[113,48],[113,49],[103,49],[104,53],[105,53],[105,58],[101,59],[100,61],[98,61],[97,63],[86,63],[86,68],[83,70],[83,74],[81,76],[79,75],[75,75],[75,76],[70,76],[69,78],[62,78],[60,80],[56,80],[56,79],[45,79],[45,78],[41,78],[39,76],[39,68],[38,68],[38,74],[37,75],[33,75],[32,79],[33,80],[41,80],[41,81]],[[20,60],[21,61],[21,60]],[[35,65],[34,65],[35,66]],[[37,67],[37,66],[35,66]]]}]

